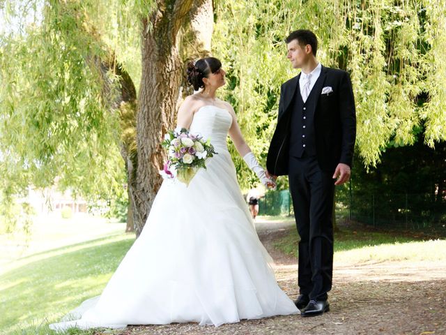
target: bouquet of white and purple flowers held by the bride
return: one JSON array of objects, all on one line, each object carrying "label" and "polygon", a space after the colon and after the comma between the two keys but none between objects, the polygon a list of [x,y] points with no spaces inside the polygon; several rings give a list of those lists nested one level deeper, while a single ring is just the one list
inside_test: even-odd
[{"label": "bouquet of white and purple flowers held by the bride", "polygon": [[206,169],[206,160],[215,154],[210,139],[193,135],[186,128],[176,128],[164,135],[162,147],[167,149],[168,161],[160,171],[164,179],[178,179],[189,185],[200,168]]}]

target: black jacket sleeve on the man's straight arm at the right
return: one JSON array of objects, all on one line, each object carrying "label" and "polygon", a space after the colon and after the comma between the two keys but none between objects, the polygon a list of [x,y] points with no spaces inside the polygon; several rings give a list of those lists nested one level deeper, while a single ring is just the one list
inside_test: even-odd
[{"label": "black jacket sleeve on the man's straight arm at the right", "polygon": [[339,163],[352,166],[356,140],[355,98],[348,73],[344,72],[339,90],[339,113],[341,116],[342,142]]}]

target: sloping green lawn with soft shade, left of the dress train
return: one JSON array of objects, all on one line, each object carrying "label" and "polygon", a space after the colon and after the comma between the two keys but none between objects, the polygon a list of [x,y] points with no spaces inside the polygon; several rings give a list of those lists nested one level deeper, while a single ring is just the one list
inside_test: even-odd
[{"label": "sloping green lawn with soft shade, left of the dress train", "polygon": [[[98,242],[102,244],[95,245]],[[85,299],[99,295],[133,242],[122,235],[118,240],[112,236],[73,244],[46,251],[59,253],[2,274],[0,333],[20,329],[27,334],[26,329],[36,324],[24,322],[45,318],[54,322]],[[79,250],[68,251],[73,247]]]}]

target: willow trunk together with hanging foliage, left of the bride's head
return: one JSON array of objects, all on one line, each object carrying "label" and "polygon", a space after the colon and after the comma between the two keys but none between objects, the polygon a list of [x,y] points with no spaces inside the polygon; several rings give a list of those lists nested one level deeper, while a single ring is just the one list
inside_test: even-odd
[{"label": "willow trunk together with hanging foliage, left of the bride's head", "polygon": [[55,181],[109,198],[127,180],[139,234],[161,182],[160,140],[183,92],[181,55],[208,53],[210,34],[201,30],[212,31],[212,3],[35,0],[0,8],[2,202]]}]

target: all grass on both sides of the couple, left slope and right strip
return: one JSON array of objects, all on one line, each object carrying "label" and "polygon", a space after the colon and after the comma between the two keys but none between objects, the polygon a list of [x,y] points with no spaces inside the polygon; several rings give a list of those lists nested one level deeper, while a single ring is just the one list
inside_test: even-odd
[{"label": "all grass on both sides of the couple, left slope and right strip", "polygon": [[[81,232],[82,233],[82,232]],[[134,234],[111,234],[39,251],[15,260],[0,274],[0,333],[55,334],[47,325],[100,295],[134,241]],[[295,253],[295,229],[275,246]],[[395,233],[355,231],[335,236],[335,261],[445,260],[446,241],[420,241]],[[71,330],[67,334],[93,334]],[[107,334],[113,334],[108,332]]]}]

